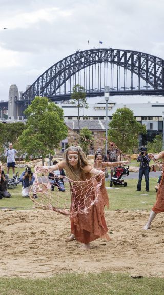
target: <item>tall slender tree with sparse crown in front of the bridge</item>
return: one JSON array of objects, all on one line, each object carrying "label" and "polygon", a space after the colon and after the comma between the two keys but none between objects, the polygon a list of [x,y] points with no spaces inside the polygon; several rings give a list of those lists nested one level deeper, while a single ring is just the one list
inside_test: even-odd
[{"label": "tall slender tree with sparse crown in front of the bridge", "polygon": [[73,100],[73,104],[78,107],[78,130],[80,132],[80,124],[79,124],[79,109],[81,107],[88,109],[89,106],[87,104],[86,92],[83,86],[76,84],[72,88],[73,93],[71,94],[71,99]]}]

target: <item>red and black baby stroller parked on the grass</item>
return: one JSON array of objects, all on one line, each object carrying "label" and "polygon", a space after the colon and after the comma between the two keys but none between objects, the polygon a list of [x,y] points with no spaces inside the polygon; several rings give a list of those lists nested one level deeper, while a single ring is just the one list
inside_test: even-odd
[{"label": "red and black baby stroller parked on the grass", "polygon": [[122,178],[123,175],[129,176],[129,166],[124,165],[115,167],[114,175],[110,180],[110,187],[112,187],[113,184],[127,186],[127,182]]}]

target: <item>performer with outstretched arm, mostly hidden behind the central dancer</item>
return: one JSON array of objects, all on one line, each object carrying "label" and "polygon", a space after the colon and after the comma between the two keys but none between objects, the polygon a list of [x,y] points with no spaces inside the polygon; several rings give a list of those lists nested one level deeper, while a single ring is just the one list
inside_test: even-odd
[{"label": "performer with outstretched arm, mostly hidden behind the central dancer", "polygon": [[[114,166],[118,166],[121,164],[128,164],[128,161],[119,161],[119,162],[103,162],[103,155],[96,153],[94,156],[95,162],[93,164],[94,168],[96,168],[97,170],[102,170],[105,172],[105,170],[107,169],[107,167],[114,167]],[[101,185],[101,193],[104,197],[104,205],[106,205],[107,207],[109,207],[109,198],[108,198],[108,193],[107,190],[105,188],[105,179],[103,179],[103,184]]]}]

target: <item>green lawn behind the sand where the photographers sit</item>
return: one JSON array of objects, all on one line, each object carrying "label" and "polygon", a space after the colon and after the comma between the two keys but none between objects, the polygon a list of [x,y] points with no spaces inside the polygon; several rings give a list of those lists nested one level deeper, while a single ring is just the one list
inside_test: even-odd
[{"label": "green lawn behind the sand where the photographers sit", "polygon": [[[150,192],[145,191],[145,179],[142,180],[142,190],[136,191],[138,179],[126,179],[128,186],[119,187],[119,189],[108,189],[110,199],[110,210],[117,209],[139,209],[150,210],[156,200],[156,192],[154,186],[157,178],[150,179]],[[110,186],[110,181],[106,182],[106,187]],[[17,208],[28,209],[33,207],[33,202],[30,198],[22,198],[22,185],[19,184],[15,189],[8,190],[11,193],[11,198],[3,198],[0,200],[1,208]],[[66,193],[59,192],[65,199]]]}]

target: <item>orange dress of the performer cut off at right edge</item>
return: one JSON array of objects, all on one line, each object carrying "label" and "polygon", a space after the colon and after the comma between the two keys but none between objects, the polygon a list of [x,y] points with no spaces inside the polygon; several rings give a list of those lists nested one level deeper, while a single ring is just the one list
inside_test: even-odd
[{"label": "orange dress of the performer cut off at right edge", "polygon": [[164,173],[162,174],[162,178],[157,191],[157,199],[152,208],[152,211],[154,211],[155,213],[164,212]]}]

